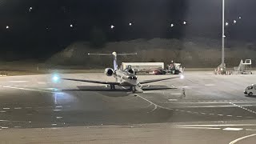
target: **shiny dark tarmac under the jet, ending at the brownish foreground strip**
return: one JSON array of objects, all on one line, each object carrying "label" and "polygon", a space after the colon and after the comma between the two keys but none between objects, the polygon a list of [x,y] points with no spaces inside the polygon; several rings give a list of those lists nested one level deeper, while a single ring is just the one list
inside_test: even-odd
[{"label": "shiny dark tarmac under the jet, ending at the brownish foreground strip", "polygon": [[[63,74],[65,78],[106,79],[103,74]],[[138,76],[150,79],[166,76]],[[211,122],[256,119],[254,97],[243,90],[256,76],[189,73],[184,79],[144,86],[132,94],[86,82],[51,82],[51,75],[0,78],[0,126],[40,128]]]}]

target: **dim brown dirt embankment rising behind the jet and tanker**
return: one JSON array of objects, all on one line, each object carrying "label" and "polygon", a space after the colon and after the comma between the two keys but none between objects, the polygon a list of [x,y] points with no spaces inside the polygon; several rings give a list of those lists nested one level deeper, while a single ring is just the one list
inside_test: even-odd
[{"label": "dim brown dirt embankment rising behind the jet and tanker", "polygon": [[[232,43],[226,48],[226,66],[238,66],[241,59],[250,58],[256,66],[256,46],[248,43]],[[102,48],[92,48],[89,42],[74,42],[65,50],[47,60],[48,66],[81,66],[102,68],[112,66],[112,57],[90,56],[87,53],[136,52],[134,56],[120,56],[118,62],[182,62],[185,67],[216,67],[221,62],[221,42],[198,38],[178,40],[154,38],[126,42],[108,42]]]}]

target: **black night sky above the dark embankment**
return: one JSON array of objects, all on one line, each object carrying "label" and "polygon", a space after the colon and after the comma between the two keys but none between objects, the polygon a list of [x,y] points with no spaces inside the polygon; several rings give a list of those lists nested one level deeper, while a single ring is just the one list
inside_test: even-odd
[{"label": "black night sky above the dark embankment", "polygon": [[[254,41],[255,6],[255,0],[226,0],[227,38]],[[45,58],[71,42],[89,41],[95,27],[111,42],[220,38],[222,0],[0,0],[0,49],[6,54]]]}]

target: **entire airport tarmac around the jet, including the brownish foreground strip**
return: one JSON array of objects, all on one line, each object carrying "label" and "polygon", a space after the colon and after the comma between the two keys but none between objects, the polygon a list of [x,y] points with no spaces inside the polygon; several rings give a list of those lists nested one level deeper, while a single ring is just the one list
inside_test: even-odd
[{"label": "entire airport tarmac around the jet, including the brownish foreground strip", "polygon": [[[187,72],[150,83],[143,93],[54,74],[0,78],[2,143],[252,143],[256,96],[243,94],[256,75]],[[61,78],[114,81],[104,74]],[[138,81],[174,75],[138,75]],[[235,141],[238,139],[237,141]]]}]

